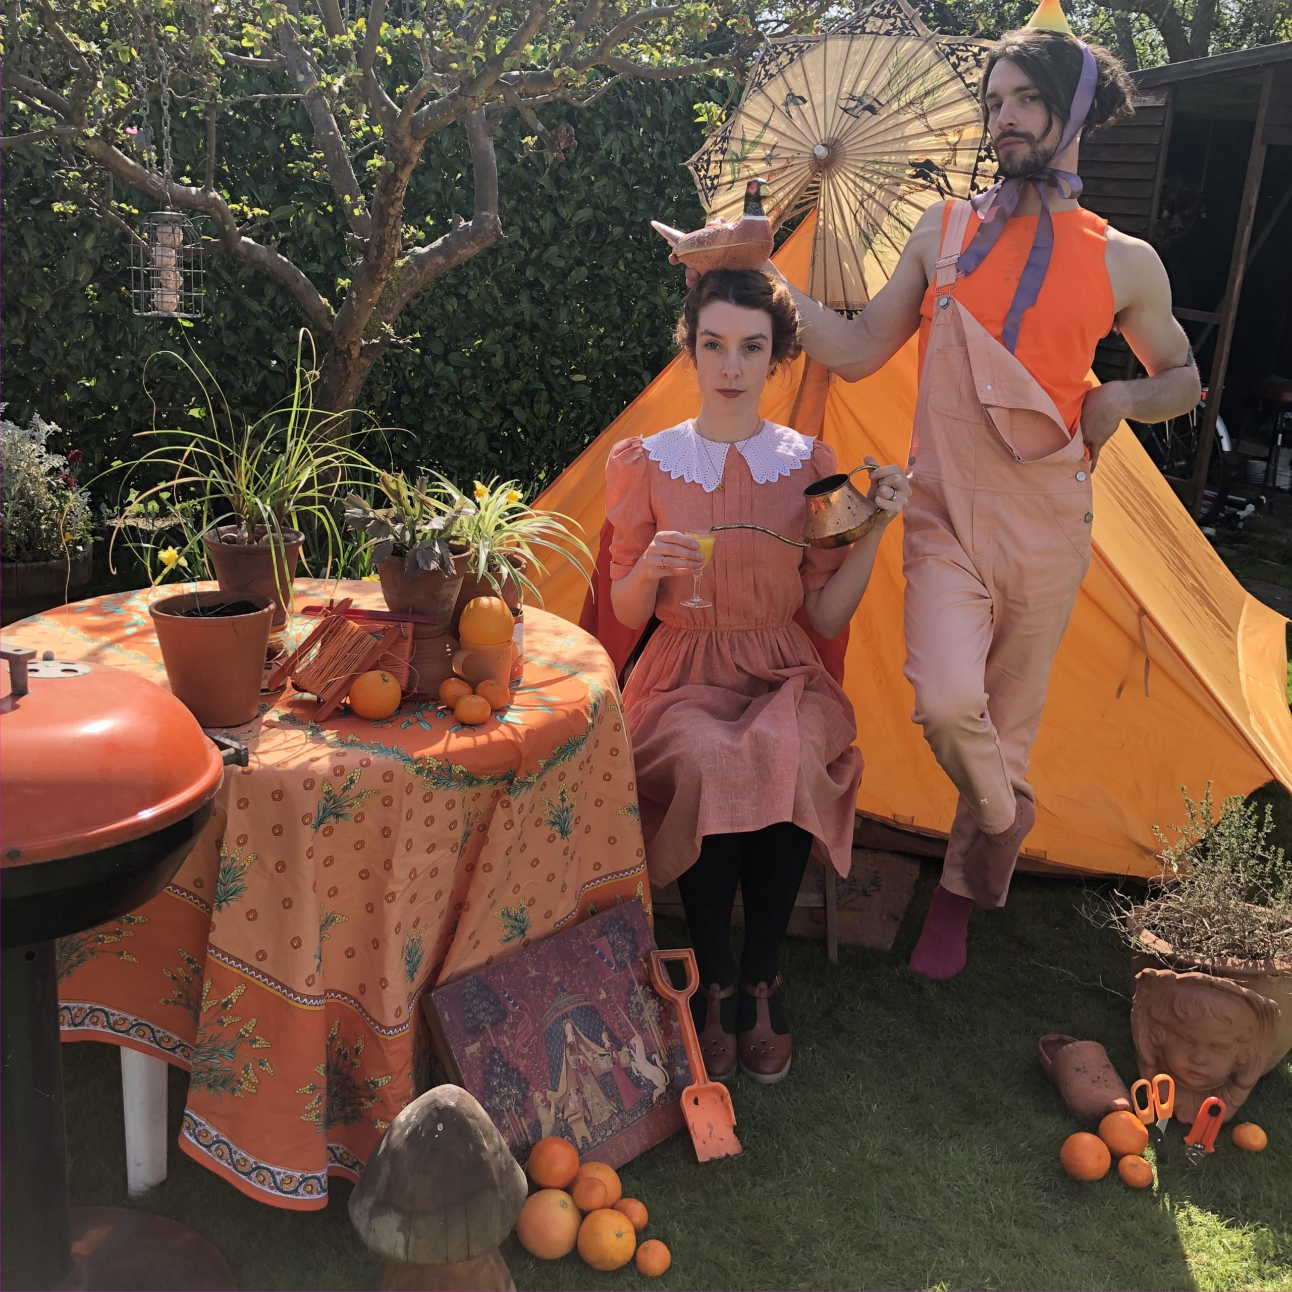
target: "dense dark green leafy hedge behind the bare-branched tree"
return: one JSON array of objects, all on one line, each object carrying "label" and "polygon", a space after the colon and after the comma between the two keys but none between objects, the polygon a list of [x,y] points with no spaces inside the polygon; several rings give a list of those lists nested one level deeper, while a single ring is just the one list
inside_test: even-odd
[{"label": "dense dark green leafy hedge behind the bare-branched tree", "polygon": [[[624,85],[588,110],[570,109],[578,146],[563,163],[530,149],[514,114],[504,121],[505,240],[410,305],[401,329],[417,335],[416,349],[388,354],[362,391],[381,424],[412,432],[391,441],[398,460],[540,486],[668,362],[683,282],[649,221],[700,220],[682,163],[703,138],[693,105],[711,89],[718,93],[696,81]],[[292,105],[256,105],[221,121],[221,176],[242,176],[235,195],[269,213],[261,236],[336,300],[350,253],[301,138],[304,116]],[[185,163],[200,173],[200,119],[181,116],[178,178]],[[141,384],[149,354],[191,341],[235,412],[256,416],[284,393],[302,322],[282,288],[218,256],[207,257],[205,318],[191,327],[136,318],[127,239],[84,208],[76,190],[87,182],[102,191],[99,177],[66,176],[41,147],[5,154],[8,416],[25,421],[35,410],[58,422],[68,433],[58,447],[85,455],[83,478],[130,452],[130,434],[150,424]],[[455,212],[470,216],[470,186],[465,140],[451,128],[426,149],[406,224],[417,238],[438,236]],[[158,391],[168,417],[193,397],[165,377]]]}]

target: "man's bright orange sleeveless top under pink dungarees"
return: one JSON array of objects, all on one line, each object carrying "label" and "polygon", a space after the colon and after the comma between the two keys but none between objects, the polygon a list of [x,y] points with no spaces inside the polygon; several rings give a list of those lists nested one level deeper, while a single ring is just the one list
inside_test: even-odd
[{"label": "man's bright orange sleeveless top under pink dungarees", "polygon": [[[951,203],[942,211],[946,233]],[[956,300],[999,341],[1005,314],[1014,298],[1018,275],[1036,233],[1037,216],[1014,216],[983,262],[956,282]],[[1070,432],[1081,419],[1081,401],[1094,385],[1090,363],[1094,348],[1112,328],[1112,284],[1103,262],[1109,222],[1078,207],[1059,211],[1054,220],[1054,249],[1036,304],[1018,329],[1018,360],[1054,401]],[[978,224],[969,221],[964,245]],[[920,306],[920,371],[933,324],[933,284]]]}]

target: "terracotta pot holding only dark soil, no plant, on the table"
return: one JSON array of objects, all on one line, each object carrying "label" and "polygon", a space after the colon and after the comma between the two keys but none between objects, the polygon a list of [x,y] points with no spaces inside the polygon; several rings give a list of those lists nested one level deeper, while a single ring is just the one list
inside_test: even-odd
[{"label": "terracotta pot holding only dark soil, no plant, on the table", "polygon": [[[248,601],[258,609],[255,614],[218,619],[182,614],[195,605],[236,601]],[[198,725],[230,727],[251,722],[260,705],[273,599],[242,592],[181,592],[155,601],[149,611],[171,690]]]}]

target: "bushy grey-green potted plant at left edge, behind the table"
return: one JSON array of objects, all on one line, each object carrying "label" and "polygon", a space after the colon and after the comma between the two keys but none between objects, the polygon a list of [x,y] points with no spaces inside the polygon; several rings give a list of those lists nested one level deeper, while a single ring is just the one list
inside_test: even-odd
[{"label": "bushy grey-green potted plant at left edge, behind the table", "polygon": [[9,621],[76,599],[90,579],[93,530],[80,450],[66,457],[50,450],[58,426],[39,415],[30,426],[0,419],[0,594]]}]

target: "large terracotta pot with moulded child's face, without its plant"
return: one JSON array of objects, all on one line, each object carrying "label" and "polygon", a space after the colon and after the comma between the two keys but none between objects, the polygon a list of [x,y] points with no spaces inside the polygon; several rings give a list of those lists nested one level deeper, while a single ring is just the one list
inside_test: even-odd
[{"label": "large terracotta pot with moulded child's face, without its plant", "polygon": [[1176,1119],[1209,1094],[1229,1121],[1257,1080],[1292,1050],[1292,960],[1200,960],[1132,917],[1137,941],[1130,1032],[1140,1075],[1176,1079]]}]

